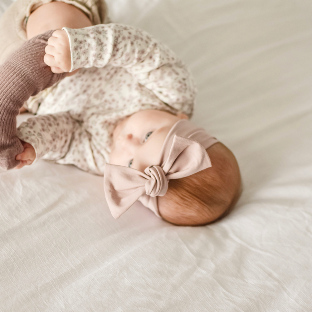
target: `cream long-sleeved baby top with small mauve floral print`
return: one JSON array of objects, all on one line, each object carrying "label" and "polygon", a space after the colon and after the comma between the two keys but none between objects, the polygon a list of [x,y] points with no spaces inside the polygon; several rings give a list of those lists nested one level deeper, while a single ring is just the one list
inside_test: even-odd
[{"label": "cream long-sleeved baby top with small mauve floral print", "polygon": [[139,110],[193,113],[196,86],[177,56],[147,32],[121,24],[64,28],[71,71],[18,128],[39,158],[103,174],[116,124]]}]

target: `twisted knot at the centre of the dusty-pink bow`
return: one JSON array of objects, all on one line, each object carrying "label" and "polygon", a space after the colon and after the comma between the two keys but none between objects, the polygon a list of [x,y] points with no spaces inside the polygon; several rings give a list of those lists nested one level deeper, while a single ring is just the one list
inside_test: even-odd
[{"label": "twisted knot at the centre of the dusty-pink bow", "polygon": [[168,189],[168,180],[163,169],[153,165],[145,168],[144,173],[150,176],[145,183],[145,194],[152,197],[164,196]]}]

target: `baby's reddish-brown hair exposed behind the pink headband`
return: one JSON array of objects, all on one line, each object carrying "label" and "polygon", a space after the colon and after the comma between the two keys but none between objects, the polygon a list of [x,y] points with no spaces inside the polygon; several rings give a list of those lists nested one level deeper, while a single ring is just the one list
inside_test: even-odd
[{"label": "baby's reddish-brown hair exposed behind the pink headband", "polygon": [[232,152],[222,143],[206,150],[212,167],[169,181],[158,197],[163,219],[177,225],[204,225],[224,217],[241,194],[241,176]]}]

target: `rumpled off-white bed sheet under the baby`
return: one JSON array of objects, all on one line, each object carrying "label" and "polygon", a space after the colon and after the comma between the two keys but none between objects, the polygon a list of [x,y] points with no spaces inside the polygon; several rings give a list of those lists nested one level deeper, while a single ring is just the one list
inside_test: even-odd
[{"label": "rumpled off-white bed sheet under the baby", "polygon": [[311,311],[312,2],[107,2],[191,68],[193,122],[244,191],[220,222],[176,227],[140,204],[116,221],[72,166],[2,172],[0,311]]}]

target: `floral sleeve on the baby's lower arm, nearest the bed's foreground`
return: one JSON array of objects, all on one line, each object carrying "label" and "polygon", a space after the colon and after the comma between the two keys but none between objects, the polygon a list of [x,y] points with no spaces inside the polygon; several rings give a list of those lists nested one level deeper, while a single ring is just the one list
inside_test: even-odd
[{"label": "floral sleeve on the baby's lower arm, nearest the bed's foreground", "polygon": [[29,118],[17,128],[17,137],[35,149],[33,163],[42,158],[103,174],[104,158],[99,157],[91,135],[69,112]]}]

